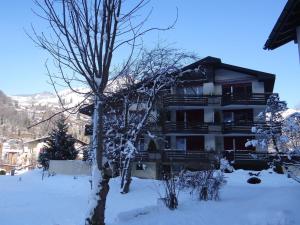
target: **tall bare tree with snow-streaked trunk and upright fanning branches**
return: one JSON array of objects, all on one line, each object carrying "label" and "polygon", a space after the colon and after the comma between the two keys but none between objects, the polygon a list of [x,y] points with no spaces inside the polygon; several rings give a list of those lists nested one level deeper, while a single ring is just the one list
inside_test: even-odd
[{"label": "tall bare tree with snow-streaked trunk and upright fanning branches", "polygon": [[[128,3],[125,0],[36,0],[37,15],[45,19],[50,32],[38,33],[33,28],[33,40],[54,59],[58,75],[73,91],[75,83],[85,83],[94,98],[92,149],[95,153],[93,183],[97,196],[92,206],[90,224],[104,224],[105,199],[109,191],[109,175],[103,169],[102,116],[104,90],[110,76],[113,55],[121,47],[129,49],[124,70],[130,65],[138,40],[149,31],[166,28],[145,28],[151,11],[139,17],[148,0]],[[130,8],[131,7],[131,8]],[[67,72],[72,72],[68,76]],[[52,83],[53,80],[51,79]],[[69,109],[66,109],[69,110]]]}]

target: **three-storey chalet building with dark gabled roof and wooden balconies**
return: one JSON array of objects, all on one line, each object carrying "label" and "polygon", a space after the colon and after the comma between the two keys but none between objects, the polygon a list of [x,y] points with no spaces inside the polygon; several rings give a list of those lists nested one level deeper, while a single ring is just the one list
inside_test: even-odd
[{"label": "three-storey chalet building with dark gabled roof and wooden balconies", "polygon": [[[193,72],[197,68],[204,68],[206,77]],[[264,122],[257,116],[273,93],[275,75],[225,64],[214,57],[182,70],[191,72],[185,73],[180,86],[162,93],[163,108],[157,114],[164,112],[165,120],[151,130],[157,137],[156,147],[150,147],[149,135],[141,138],[132,174],[161,178],[162,171],[171,169],[200,170],[218,164],[216,155],[245,166],[265,163],[253,158],[256,149],[245,143],[254,138],[251,128]],[[90,116],[92,111],[91,106],[81,110]],[[91,134],[90,126],[87,128],[86,133]]]}]

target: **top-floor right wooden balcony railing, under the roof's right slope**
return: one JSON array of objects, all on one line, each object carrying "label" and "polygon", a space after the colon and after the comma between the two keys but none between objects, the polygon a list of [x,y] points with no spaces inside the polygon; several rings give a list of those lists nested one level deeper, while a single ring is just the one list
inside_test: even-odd
[{"label": "top-floor right wooden balcony railing, under the roof's right slope", "polygon": [[266,105],[269,93],[251,93],[249,95],[222,96],[221,104],[224,105]]}]

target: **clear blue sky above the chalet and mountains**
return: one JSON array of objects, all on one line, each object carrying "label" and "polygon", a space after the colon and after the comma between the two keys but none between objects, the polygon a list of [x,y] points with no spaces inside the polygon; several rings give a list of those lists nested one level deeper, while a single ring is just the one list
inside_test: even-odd
[{"label": "clear blue sky above the chalet and mountains", "polygon": [[[145,45],[158,41],[195,52],[200,57],[214,56],[222,62],[276,74],[274,92],[288,106],[300,106],[300,64],[293,42],[276,50],[263,50],[286,0],[152,0],[149,24],[175,27],[152,33]],[[32,0],[0,2],[0,90],[7,95],[53,92],[45,62],[51,57],[26,35],[31,24],[39,30],[47,24],[37,17]],[[150,9],[150,8],[149,8]],[[118,56],[116,56],[118,57]]]}]

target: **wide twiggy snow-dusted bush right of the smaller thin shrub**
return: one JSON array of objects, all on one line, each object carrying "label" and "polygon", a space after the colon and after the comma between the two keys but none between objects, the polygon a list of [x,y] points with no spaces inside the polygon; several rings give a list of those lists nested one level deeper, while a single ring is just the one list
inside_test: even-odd
[{"label": "wide twiggy snow-dusted bush right of the smaller thin shrub", "polygon": [[220,170],[186,171],[180,174],[178,185],[181,189],[191,190],[199,200],[219,200],[220,189],[226,180]]}]

